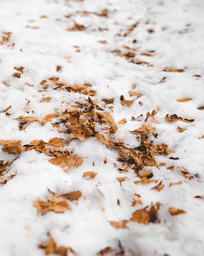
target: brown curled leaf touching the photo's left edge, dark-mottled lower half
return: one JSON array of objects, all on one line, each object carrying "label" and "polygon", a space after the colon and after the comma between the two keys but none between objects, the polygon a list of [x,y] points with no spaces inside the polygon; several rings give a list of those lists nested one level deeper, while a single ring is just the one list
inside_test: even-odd
[{"label": "brown curled leaf touching the photo's left edge, dark-mottled lower half", "polygon": [[0,140],[0,144],[4,145],[2,151],[7,154],[20,154],[22,140]]}]

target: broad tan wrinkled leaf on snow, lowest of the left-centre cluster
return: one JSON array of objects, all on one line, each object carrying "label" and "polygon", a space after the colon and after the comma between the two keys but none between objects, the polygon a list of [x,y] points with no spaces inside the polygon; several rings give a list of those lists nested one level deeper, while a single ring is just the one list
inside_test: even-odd
[{"label": "broad tan wrinkled leaf on snow, lowest of the left-centre cluster", "polygon": [[82,158],[78,155],[71,156],[58,156],[49,160],[50,163],[54,165],[60,165],[60,167],[64,168],[68,166],[68,170],[72,168],[74,165],[76,167],[82,164]]}]

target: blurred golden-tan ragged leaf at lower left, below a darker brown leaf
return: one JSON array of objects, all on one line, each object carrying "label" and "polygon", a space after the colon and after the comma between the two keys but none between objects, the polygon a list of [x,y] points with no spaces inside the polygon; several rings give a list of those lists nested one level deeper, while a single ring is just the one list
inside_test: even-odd
[{"label": "blurred golden-tan ragged leaf at lower left, below a darker brown leaf", "polygon": [[64,211],[71,209],[68,202],[64,199],[58,199],[48,195],[45,197],[47,198],[46,202],[37,200],[33,203],[33,206],[35,206],[42,215],[49,211],[53,211],[55,213],[64,213]]}]

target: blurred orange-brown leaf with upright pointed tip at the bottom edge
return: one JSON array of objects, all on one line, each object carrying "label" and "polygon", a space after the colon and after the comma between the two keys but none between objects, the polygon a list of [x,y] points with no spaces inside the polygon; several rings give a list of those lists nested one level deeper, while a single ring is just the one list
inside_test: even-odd
[{"label": "blurred orange-brown leaf with upright pointed tip at the bottom edge", "polygon": [[39,245],[38,248],[44,249],[45,255],[56,254],[56,255],[60,255],[60,256],[67,256],[67,251],[68,251],[68,249],[71,249],[71,248],[67,248],[64,246],[57,247],[55,240],[51,236],[50,232],[48,233],[48,236],[49,236],[49,240],[48,240],[47,245],[46,246]]}]

